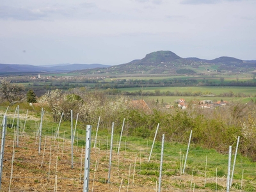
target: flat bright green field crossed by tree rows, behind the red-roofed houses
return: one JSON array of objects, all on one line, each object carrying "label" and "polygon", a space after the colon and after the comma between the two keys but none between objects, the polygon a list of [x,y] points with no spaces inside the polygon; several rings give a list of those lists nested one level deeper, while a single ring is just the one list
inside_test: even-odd
[{"label": "flat bright green field crossed by tree rows, behind the red-roofed houses", "polygon": [[[189,100],[227,100],[227,101],[240,101],[243,103],[249,102],[250,100],[256,100],[256,92],[254,87],[228,87],[228,86],[203,86],[203,87],[143,87],[143,88],[120,88],[121,92],[129,92],[136,93],[140,92],[135,98],[145,99],[145,100],[163,100],[164,103],[173,104],[176,100],[183,98],[187,101]],[[158,92],[157,92],[158,91]],[[148,93],[157,95],[149,96]],[[173,95],[168,95],[166,92],[171,92]],[[200,92],[202,95],[209,96],[195,96],[195,93]],[[229,93],[233,95],[227,97]],[[239,97],[239,95],[243,93],[243,97]],[[193,96],[194,95],[194,96]],[[211,95],[215,95],[212,97]],[[132,96],[131,96],[132,97]]]}]

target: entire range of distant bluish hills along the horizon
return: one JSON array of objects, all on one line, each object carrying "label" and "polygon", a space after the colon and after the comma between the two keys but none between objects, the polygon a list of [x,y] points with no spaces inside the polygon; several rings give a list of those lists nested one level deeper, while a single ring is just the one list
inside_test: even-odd
[{"label": "entire range of distant bluish hills along the horizon", "polygon": [[141,60],[132,60],[120,65],[102,64],[58,64],[58,65],[17,65],[0,64],[0,75],[26,73],[79,73],[79,74],[214,74],[225,72],[252,72],[256,70],[256,60],[239,60],[221,56],[214,60],[196,57],[181,58],[172,51],[151,52]]}]

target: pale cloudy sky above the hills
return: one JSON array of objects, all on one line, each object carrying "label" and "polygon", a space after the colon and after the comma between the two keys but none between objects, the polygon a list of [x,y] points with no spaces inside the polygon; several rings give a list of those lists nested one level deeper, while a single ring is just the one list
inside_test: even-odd
[{"label": "pale cloudy sky above the hills", "polygon": [[2,0],[0,63],[119,65],[154,51],[256,60],[255,0]]}]

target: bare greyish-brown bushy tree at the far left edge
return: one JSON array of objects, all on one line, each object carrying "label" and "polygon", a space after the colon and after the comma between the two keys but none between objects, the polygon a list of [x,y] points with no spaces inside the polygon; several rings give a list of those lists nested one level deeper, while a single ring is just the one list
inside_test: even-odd
[{"label": "bare greyish-brown bushy tree at the far left edge", "polygon": [[10,81],[1,81],[0,95],[4,100],[8,100],[11,105],[20,102],[25,98],[24,86],[20,84],[13,84]]}]

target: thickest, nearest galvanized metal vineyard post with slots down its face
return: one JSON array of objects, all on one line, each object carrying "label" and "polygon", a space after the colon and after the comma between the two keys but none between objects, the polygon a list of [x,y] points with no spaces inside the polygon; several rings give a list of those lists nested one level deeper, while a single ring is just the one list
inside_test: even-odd
[{"label": "thickest, nearest galvanized metal vineyard post with slots down its face", "polygon": [[86,125],[83,192],[89,191],[91,132],[92,132],[92,125]]}]

